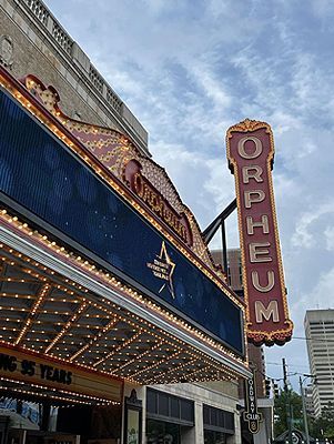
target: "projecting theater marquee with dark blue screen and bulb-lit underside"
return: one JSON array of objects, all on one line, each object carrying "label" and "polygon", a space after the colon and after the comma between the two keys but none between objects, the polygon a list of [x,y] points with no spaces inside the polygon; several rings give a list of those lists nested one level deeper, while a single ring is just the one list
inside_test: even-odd
[{"label": "projecting theater marquee with dark blue screen and bulb-lit underside", "polygon": [[[0,80],[1,344],[139,384],[249,375],[244,305],[206,250],[193,253],[190,213],[154,214],[41,101]],[[71,380],[33,362],[40,383]]]}]

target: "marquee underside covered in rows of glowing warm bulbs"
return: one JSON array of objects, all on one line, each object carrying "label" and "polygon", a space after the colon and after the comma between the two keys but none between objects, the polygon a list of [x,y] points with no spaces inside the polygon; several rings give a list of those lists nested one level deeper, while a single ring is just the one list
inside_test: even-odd
[{"label": "marquee underside covered in rows of glowing warm bulbs", "polygon": [[1,244],[4,346],[139,384],[233,379],[229,370],[146,320]]}]

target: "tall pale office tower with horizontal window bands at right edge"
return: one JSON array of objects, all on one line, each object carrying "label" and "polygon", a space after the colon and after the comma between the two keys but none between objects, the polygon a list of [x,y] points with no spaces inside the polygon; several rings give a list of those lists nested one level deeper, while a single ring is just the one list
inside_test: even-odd
[{"label": "tall pale office tower with horizontal window bands at right edge", "polygon": [[307,310],[305,336],[313,384],[313,407],[316,417],[334,403],[334,310]]}]

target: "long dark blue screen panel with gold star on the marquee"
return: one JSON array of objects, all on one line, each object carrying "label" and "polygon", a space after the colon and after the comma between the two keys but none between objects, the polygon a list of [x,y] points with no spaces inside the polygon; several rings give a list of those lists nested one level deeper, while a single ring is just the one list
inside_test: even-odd
[{"label": "long dark blue screen panel with gold star on the marquee", "polygon": [[19,204],[29,219],[243,354],[240,307],[3,92],[0,155],[7,204]]}]

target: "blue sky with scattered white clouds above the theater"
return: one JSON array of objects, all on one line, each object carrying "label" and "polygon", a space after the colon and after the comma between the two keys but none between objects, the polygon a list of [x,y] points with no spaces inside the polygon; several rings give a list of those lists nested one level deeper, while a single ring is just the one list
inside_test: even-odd
[{"label": "blue sky with scattered white clouds above the theater", "polygon": [[[307,373],[305,310],[334,307],[334,2],[45,3],[146,128],[151,153],[202,229],[235,195],[227,128],[245,118],[272,125],[295,331],[289,345],[267,351],[267,375],[282,376],[282,356],[291,373]],[[235,246],[235,218],[229,233]]]}]

